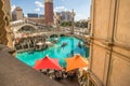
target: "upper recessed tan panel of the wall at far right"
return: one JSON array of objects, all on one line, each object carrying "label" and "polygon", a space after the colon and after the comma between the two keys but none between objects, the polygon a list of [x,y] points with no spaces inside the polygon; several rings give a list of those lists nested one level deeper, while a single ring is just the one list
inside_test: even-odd
[{"label": "upper recessed tan panel of the wall at far right", "polygon": [[[116,6],[116,22],[114,40],[118,45],[130,47],[130,0],[118,0]],[[122,29],[123,28],[123,29]]]}]

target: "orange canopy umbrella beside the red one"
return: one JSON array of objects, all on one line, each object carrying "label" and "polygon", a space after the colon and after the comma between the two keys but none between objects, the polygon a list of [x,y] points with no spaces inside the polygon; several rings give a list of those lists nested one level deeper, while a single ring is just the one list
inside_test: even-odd
[{"label": "orange canopy umbrella beside the red one", "polygon": [[67,62],[66,71],[70,71],[74,69],[82,68],[88,66],[88,60],[81,57],[80,55],[75,55],[74,57],[66,58]]}]

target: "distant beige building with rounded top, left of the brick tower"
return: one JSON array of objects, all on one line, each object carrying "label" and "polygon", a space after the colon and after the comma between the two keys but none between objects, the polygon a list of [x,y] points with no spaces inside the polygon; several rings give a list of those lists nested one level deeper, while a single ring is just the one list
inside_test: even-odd
[{"label": "distant beige building with rounded top, left of the brick tower", "polygon": [[24,18],[23,10],[20,6],[16,6],[12,12],[12,20],[20,20]]}]

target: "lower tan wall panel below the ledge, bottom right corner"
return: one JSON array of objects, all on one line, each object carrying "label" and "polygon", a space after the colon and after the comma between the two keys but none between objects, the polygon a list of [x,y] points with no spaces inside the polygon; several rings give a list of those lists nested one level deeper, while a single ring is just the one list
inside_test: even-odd
[{"label": "lower tan wall panel below the ledge, bottom right corner", "polygon": [[130,59],[125,58],[119,54],[113,54],[109,69],[108,86],[129,86],[129,71]]}]

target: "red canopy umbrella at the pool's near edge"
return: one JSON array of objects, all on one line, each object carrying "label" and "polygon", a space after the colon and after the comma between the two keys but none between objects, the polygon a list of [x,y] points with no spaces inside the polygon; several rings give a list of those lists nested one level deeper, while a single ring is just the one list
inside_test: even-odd
[{"label": "red canopy umbrella at the pool's near edge", "polygon": [[58,60],[50,58],[48,56],[46,56],[42,59],[37,60],[34,68],[36,70],[40,70],[40,69],[56,69],[56,70],[62,70],[62,67],[58,64]]}]

